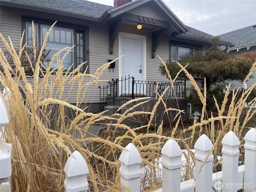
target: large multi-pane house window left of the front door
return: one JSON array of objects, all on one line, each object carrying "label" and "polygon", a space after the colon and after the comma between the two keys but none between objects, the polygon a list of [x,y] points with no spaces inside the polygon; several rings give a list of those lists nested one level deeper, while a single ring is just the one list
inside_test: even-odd
[{"label": "large multi-pane house window left of the front door", "polygon": [[[42,22],[40,19],[23,18],[22,23],[24,24],[23,28],[26,30],[27,46],[32,46],[32,20],[34,20],[36,44],[40,46],[54,22],[45,20]],[[85,53],[85,50],[88,50],[88,34],[88,27],[63,23],[61,23],[60,26],[57,26],[56,24],[50,32],[46,42],[46,50],[50,50],[48,55],[49,58],[52,58],[54,54],[63,48],[70,48],[75,45],[74,48],[68,52],[62,63],[64,71],[67,71],[72,64],[74,69],[82,62],[88,61],[89,56]],[[66,51],[67,50],[60,54],[60,58],[66,54]],[[44,62],[45,66],[48,66],[48,64],[49,62]],[[86,66],[88,66],[88,62],[86,63]],[[85,70],[86,66],[84,66],[82,70]],[[57,60],[54,61],[51,68],[54,69],[56,67]]]}]

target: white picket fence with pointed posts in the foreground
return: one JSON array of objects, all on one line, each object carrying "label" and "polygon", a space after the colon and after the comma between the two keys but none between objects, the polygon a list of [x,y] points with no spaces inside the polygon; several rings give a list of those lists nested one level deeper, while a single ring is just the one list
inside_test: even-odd
[{"label": "white picket fence with pointed posts in the foreground", "polygon": [[[8,108],[0,94],[0,127],[9,122]],[[228,132],[222,139],[222,171],[212,173],[213,144],[206,135],[200,136],[195,148],[195,179],[180,182],[180,168],[182,151],[175,140],[168,140],[162,150],[162,188],[154,192],[209,192],[209,191],[237,191],[256,192],[256,129],[251,128],[244,137],[244,165],[238,166],[240,141],[234,132]],[[1,141],[0,146],[0,191],[11,191],[10,181],[11,163],[10,146],[7,154],[6,145]],[[10,144],[9,144],[10,145]],[[4,158],[3,158],[4,157]],[[137,148],[132,144],[120,155],[120,184],[132,192],[140,191],[142,158]],[[7,170],[3,172],[3,170]],[[87,192],[89,174],[88,166],[82,155],[75,151],[68,158],[64,172],[64,188],[66,192]],[[7,180],[6,180],[7,178]],[[4,182],[2,182],[4,181]],[[123,190],[126,191],[126,190]]]}]

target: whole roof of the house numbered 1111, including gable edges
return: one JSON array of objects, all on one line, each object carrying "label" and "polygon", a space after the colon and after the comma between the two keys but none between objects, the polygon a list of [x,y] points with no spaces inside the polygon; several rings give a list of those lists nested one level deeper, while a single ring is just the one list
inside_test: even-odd
[{"label": "whole roof of the house numbered 1111, including gable edges", "polygon": [[[0,4],[5,6],[38,10],[48,12],[49,14],[54,13],[97,22],[108,22],[110,19],[114,19],[116,16],[147,2],[150,2],[150,0],[133,0],[120,7],[114,7],[86,0],[0,0]],[[155,4],[161,8],[162,13],[170,18],[170,26],[172,26],[178,34],[176,37],[205,43],[209,43],[209,40],[214,37],[210,34],[185,26],[162,0],[152,0],[152,2],[155,2]],[[170,35],[173,36],[173,34]],[[234,46],[222,39],[220,40],[220,45]]]}]

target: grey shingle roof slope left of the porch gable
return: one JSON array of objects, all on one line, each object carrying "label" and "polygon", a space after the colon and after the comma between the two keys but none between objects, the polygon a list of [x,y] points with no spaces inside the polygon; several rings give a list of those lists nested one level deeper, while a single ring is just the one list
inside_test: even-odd
[{"label": "grey shingle roof slope left of the porch gable", "polygon": [[48,8],[93,18],[100,18],[106,10],[114,8],[114,6],[103,5],[86,0],[1,0],[1,2]]}]

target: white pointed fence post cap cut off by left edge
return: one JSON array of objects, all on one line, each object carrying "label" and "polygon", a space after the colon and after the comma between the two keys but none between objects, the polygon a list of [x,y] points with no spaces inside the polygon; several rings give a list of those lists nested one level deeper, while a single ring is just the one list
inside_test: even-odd
[{"label": "white pointed fence post cap cut off by left edge", "polygon": [[8,125],[11,119],[9,107],[2,93],[0,93],[0,110],[0,128],[2,128],[3,126]]}]

